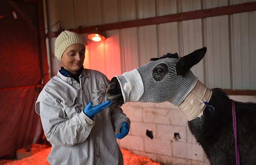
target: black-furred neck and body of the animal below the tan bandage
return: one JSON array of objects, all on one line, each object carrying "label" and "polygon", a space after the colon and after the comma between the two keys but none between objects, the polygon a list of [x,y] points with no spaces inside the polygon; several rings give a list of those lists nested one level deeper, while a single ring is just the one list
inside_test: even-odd
[{"label": "black-furred neck and body of the animal below the tan bandage", "polygon": [[[202,146],[211,165],[235,165],[235,139],[233,132],[232,103],[222,89],[212,89],[208,107],[188,122],[190,131]],[[235,101],[238,146],[241,165],[256,165],[256,104]]]}]

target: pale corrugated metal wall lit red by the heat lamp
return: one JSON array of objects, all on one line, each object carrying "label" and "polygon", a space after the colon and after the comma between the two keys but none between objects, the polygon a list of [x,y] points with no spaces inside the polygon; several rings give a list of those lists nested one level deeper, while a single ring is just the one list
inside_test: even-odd
[{"label": "pale corrugated metal wall lit red by the heat lamp", "polygon": [[[255,1],[255,0],[254,0]],[[211,9],[247,0],[48,0],[48,26],[62,29],[136,20]],[[99,5],[100,4],[100,5]],[[53,26],[49,31],[57,31]],[[209,88],[256,90],[256,12],[107,31],[107,39],[86,39],[85,67],[120,75],[149,62],[151,57],[177,52],[180,56],[207,46],[205,58],[191,70]],[[53,75],[60,63],[54,59]]]}]

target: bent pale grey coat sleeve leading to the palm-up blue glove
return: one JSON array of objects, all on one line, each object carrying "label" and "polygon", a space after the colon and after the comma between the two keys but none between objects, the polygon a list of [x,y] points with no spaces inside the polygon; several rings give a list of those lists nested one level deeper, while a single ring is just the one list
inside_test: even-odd
[{"label": "bent pale grey coat sleeve leading to the palm-up blue glove", "polygon": [[84,142],[95,124],[83,112],[68,119],[63,106],[52,98],[37,101],[36,112],[40,115],[47,140],[54,145],[72,146]]}]

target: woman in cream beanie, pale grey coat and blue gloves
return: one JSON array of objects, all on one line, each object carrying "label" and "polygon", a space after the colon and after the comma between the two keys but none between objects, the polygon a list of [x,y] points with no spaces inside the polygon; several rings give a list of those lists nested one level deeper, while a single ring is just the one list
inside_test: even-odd
[{"label": "woman in cream beanie, pale grey coat and blue gloves", "polygon": [[116,138],[128,134],[130,120],[107,101],[109,80],[99,71],[83,68],[85,42],[75,32],[61,32],[54,54],[62,67],[36,101],[52,145],[47,160],[51,165],[122,165]]}]

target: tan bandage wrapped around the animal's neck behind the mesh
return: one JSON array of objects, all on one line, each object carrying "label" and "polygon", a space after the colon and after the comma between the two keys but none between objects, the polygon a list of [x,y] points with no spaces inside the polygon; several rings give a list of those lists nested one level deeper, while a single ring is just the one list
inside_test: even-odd
[{"label": "tan bandage wrapped around the animal's neck behind the mesh", "polygon": [[211,96],[212,90],[198,80],[196,86],[187,94],[178,107],[184,112],[187,119],[191,121],[197,117],[202,117],[203,110],[206,107],[205,102],[209,102]]}]

